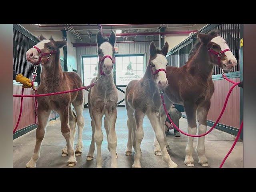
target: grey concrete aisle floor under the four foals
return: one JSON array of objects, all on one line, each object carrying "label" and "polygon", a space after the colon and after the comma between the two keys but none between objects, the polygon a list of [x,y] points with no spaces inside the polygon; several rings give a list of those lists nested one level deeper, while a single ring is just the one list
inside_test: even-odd
[{"label": "grey concrete aisle floor under the four foals", "polygon": [[[91,161],[86,160],[86,155],[89,150],[92,130],[90,126],[90,116],[88,108],[84,109],[85,126],[83,131],[84,148],[82,156],[76,157],[77,164],[75,168],[95,168],[95,158]],[[134,162],[134,152],[132,156],[125,156],[126,143],[128,137],[128,128],[126,126],[126,109],[124,107],[118,108],[118,117],[116,121],[116,134],[118,138],[117,152],[118,152],[118,167],[131,168]],[[144,138],[141,144],[142,168],[167,168],[167,165],[162,160],[162,156],[154,154],[154,131],[150,125],[147,117],[143,122]],[[180,119],[180,128],[187,132],[187,122],[185,118]],[[208,127],[209,129],[210,127]],[[102,142],[102,158],[103,168],[110,167],[110,154],[107,149],[106,131],[103,128],[104,140]],[[26,163],[30,160],[35,145],[36,130],[32,130],[13,140],[13,167],[25,168]],[[75,144],[78,137],[76,131]],[[202,167],[198,164],[198,157],[194,152],[195,166],[192,168],[218,168],[224,156],[232,146],[235,136],[214,129],[206,136],[205,151],[208,158],[208,167]],[[178,168],[190,168],[184,165],[185,148],[188,137],[181,134],[181,137],[175,137],[173,130],[167,135],[167,140],[170,144],[171,150],[168,151],[172,160],[178,164]],[[197,138],[194,139],[194,148],[196,148]],[[68,168],[66,162],[68,157],[62,157],[61,150],[66,145],[66,141],[60,132],[60,119],[50,121],[46,128],[46,134],[42,142],[40,158],[36,164],[37,168]],[[94,152],[96,156],[96,150]],[[232,153],[226,160],[223,168],[242,168],[243,167],[243,143],[237,142]]]}]

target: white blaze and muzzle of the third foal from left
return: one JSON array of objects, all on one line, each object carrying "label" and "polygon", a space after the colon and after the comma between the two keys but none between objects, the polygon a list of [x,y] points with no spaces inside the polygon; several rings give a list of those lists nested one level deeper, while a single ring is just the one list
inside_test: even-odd
[{"label": "white blaze and muzzle of the third foal from left", "polygon": [[[158,69],[166,70],[167,60],[166,57],[162,54],[156,54],[156,58],[151,60],[153,72],[157,71]],[[168,84],[166,73],[164,71],[159,71],[155,74],[155,82],[159,88],[165,88]]]}]

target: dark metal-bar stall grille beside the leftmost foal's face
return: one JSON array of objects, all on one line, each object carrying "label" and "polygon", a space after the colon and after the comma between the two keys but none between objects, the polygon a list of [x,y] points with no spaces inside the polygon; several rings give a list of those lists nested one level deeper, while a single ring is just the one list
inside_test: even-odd
[{"label": "dark metal-bar stall grille beside the leftmost foal's face", "polygon": [[[39,41],[36,37],[32,37],[24,29],[18,25],[13,27],[13,69],[17,73],[32,80],[34,66],[26,61],[26,52]],[[38,67],[39,69],[40,67]],[[40,72],[40,69],[38,70]],[[36,77],[36,82],[40,83],[40,75]]]}]

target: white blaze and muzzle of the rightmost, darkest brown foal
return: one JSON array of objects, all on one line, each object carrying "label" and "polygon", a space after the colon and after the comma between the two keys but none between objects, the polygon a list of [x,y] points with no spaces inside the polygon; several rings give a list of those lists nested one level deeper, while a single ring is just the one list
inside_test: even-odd
[{"label": "white blaze and muzzle of the rightmost, darkest brown foal", "polygon": [[[219,45],[221,51],[225,49],[230,49],[226,41],[221,36],[212,38],[211,42]],[[235,56],[232,54],[231,51],[226,51],[224,54],[226,55],[226,57],[224,57],[224,55],[222,56],[224,60],[223,58],[221,58],[220,60],[220,64],[222,65],[221,67],[226,70],[232,69],[237,64]]]}]

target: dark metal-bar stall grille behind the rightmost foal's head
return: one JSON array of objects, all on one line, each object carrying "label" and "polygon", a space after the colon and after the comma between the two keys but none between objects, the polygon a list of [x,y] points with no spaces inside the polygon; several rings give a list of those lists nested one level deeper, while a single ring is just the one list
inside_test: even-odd
[{"label": "dark metal-bar stall grille behind the rightmost foal's head", "polygon": [[[241,24],[209,24],[198,30],[198,32],[206,34],[211,30],[217,30],[220,33],[220,36],[222,36],[228,43],[230,50],[237,58],[238,64],[232,72],[225,71],[227,74],[236,72],[234,74],[237,75],[237,72],[240,72],[240,28]],[[176,67],[184,66],[187,62],[188,54],[196,41],[196,34],[194,34],[170,50],[167,56],[168,64]],[[214,70],[212,72],[213,78],[214,75],[219,74],[221,74],[220,68],[218,66],[214,66]]]}]

